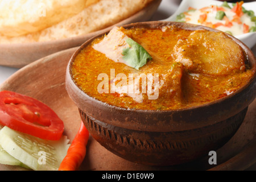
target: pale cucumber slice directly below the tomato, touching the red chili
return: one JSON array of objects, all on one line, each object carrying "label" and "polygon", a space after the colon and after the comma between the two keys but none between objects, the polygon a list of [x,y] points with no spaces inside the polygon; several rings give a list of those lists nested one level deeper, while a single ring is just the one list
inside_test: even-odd
[{"label": "pale cucumber slice directly below the tomato, touching the red chili", "polygon": [[[69,140],[43,140],[5,126],[0,131],[0,145],[22,164],[38,171],[57,170],[67,155]],[[23,166],[23,167],[24,167]]]}]

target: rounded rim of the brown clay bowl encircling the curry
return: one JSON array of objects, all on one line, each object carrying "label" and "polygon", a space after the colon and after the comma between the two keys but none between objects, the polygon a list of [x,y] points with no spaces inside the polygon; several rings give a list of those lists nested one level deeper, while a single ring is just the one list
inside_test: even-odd
[{"label": "rounded rim of the brown clay bowl encircling the curry", "polygon": [[[130,23],[130,24],[123,25],[122,27],[123,28],[130,28],[130,27],[148,27],[149,28],[149,27],[162,27],[162,26],[171,26],[171,25],[175,25],[175,26],[180,27],[180,28],[185,28],[187,30],[202,30],[203,29],[203,30],[208,30],[208,31],[221,32],[220,30],[216,30],[216,29],[213,29],[213,28],[210,28],[210,27],[196,25],[196,24],[183,23],[183,22],[164,22],[164,21]],[[219,98],[215,101],[208,102],[206,104],[201,104],[201,105],[192,106],[192,107],[186,107],[186,108],[182,108],[182,109],[170,109],[170,110],[146,110],[146,109],[129,109],[129,108],[127,109],[127,108],[124,108],[124,107],[110,105],[106,102],[98,100],[97,98],[91,97],[88,94],[86,94],[85,92],[83,92],[75,84],[75,82],[73,81],[73,78],[71,76],[72,75],[72,73],[71,73],[71,67],[72,66],[71,65],[72,65],[73,61],[75,60],[75,57],[81,52],[82,49],[84,49],[86,46],[88,46],[88,44],[90,44],[94,39],[96,39],[96,38],[98,38],[102,35],[108,34],[108,32],[109,31],[103,32],[103,33],[98,34],[98,35],[94,36],[93,38],[90,38],[89,40],[87,40],[85,43],[83,43],[75,51],[75,53],[73,53],[71,59],[69,60],[69,63],[68,63],[68,66],[67,66],[67,72],[66,72],[66,85],[68,85],[68,86],[66,86],[66,88],[67,88],[69,97],[71,97],[72,100],[73,100],[72,93],[69,93],[69,88],[68,88],[69,84],[71,84],[73,88],[77,88],[76,94],[81,94],[80,96],[82,98],[88,99],[90,102],[94,102],[95,105],[98,105],[99,107],[105,108],[107,110],[110,109],[110,110],[117,110],[117,111],[126,111],[128,113],[130,113],[132,111],[133,113],[137,113],[137,114],[145,114],[145,113],[150,113],[150,114],[159,114],[159,113],[172,114],[172,113],[180,113],[180,112],[182,113],[182,112],[185,111],[185,113],[188,114],[188,113],[191,113],[194,110],[196,111],[196,110],[200,110],[200,109],[207,109],[207,108],[212,107],[212,106],[213,107],[215,106],[215,108],[216,108],[218,105],[221,105],[223,102],[228,102],[233,97],[239,97],[239,95],[243,91],[245,91],[246,89],[250,88],[250,86],[256,87],[256,58],[255,58],[253,52],[250,50],[249,47],[247,47],[243,42],[241,42],[241,40],[238,40],[234,36],[226,34],[224,32],[225,35],[229,36],[229,38],[233,39],[237,44],[239,44],[242,47],[243,51],[246,53],[246,56],[249,60],[250,67],[254,72],[253,76],[249,80],[246,81],[245,85],[243,85],[241,88],[237,89],[235,92],[229,94],[228,96]],[[250,92],[250,90],[247,91],[247,92]],[[217,120],[218,121],[223,121],[224,119],[228,119],[229,117],[232,117],[233,115],[239,113],[240,111],[245,109],[245,107],[248,106],[251,102],[253,102],[255,96],[256,96],[256,94],[254,94],[253,98],[251,98],[250,100],[245,100],[243,102],[244,105],[243,105],[243,107],[241,107],[240,110],[230,112],[230,114],[226,114],[226,115],[222,116],[221,119],[219,118]],[[75,102],[75,104],[77,105],[77,107],[79,107],[79,109],[81,109],[81,110],[84,109],[83,108],[84,104],[79,104],[78,102]],[[212,121],[211,122],[205,122],[204,126],[207,126],[210,123],[212,123]],[[195,126],[195,127],[199,127],[199,126]],[[131,128],[128,128],[128,129],[131,129]],[[180,127],[180,129],[181,129],[181,127]],[[150,130],[150,129],[148,129],[148,130]]]}]

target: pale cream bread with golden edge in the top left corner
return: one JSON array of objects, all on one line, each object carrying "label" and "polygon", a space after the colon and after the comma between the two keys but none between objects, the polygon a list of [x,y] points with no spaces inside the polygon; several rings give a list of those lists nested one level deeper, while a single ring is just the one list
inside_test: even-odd
[{"label": "pale cream bread with golden edge in the top left corner", "polygon": [[11,0],[0,2],[0,34],[21,36],[79,14],[98,0]]}]

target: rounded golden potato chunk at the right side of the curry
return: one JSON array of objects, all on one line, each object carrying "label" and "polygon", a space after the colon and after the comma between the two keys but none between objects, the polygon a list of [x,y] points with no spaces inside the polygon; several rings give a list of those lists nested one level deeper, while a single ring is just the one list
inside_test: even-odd
[{"label": "rounded golden potato chunk at the right side of the curry", "polygon": [[228,75],[245,71],[242,48],[222,32],[197,30],[188,37],[180,36],[172,57],[191,73]]}]

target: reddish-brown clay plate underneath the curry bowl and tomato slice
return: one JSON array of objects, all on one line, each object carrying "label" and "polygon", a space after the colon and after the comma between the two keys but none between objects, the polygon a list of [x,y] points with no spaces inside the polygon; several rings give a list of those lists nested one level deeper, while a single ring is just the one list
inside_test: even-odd
[{"label": "reddish-brown clay plate underneath the curry bowl and tomato slice", "polygon": [[[50,106],[64,121],[64,134],[73,139],[79,129],[80,115],[65,90],[65,71],[77,48],[60,51],[34,61],[9,77],[0,90],[11,90],[37,98]],[[222,148],[217,150],[217,164],[209,165],[210,156],[171,167],[143,166],[119,158],[89,139],[86,158],[81,170],[243,170],[256,163],[256,100],[249,106],[240,129]],[[0,164],[0,170],[24,170]]]}]

